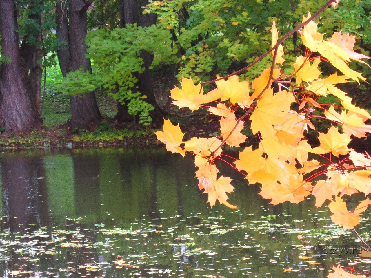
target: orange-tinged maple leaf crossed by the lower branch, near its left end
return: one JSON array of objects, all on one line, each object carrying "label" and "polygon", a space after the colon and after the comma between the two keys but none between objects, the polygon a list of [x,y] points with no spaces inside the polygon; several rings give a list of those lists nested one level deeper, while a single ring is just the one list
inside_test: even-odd
[{"label": "orange-tinged maple leaf crossed by the lower branch, near its left end", "polygon": [[[243,129],[244,121],[237,123],[234,112],[229,113],[229,115],[220,119],[220,132],[223,140],[226,140],[226,144],[233,146],[240,146],[241,143],[246,142],[246,135],[241,133]],[[237,125],[237,126],[236,126]],[[236,128],[235,128],[236,126]],[[233,131],[232,131],[233,130]],[[228,138],[227,138],[228,137]]]}]

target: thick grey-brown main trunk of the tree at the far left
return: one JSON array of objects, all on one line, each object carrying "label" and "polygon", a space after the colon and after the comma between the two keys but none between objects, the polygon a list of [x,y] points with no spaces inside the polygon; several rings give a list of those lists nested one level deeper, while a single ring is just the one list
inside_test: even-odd
[{"label": "thick grey-brown main trunk of the tree at the far left", "polygon": [[[12,62],[0,67],[0,121],[5,133],[39,129],[42,119],[32,102],[32,87],[24,69],[14,20],[14,3],[0,0],[0,36],[2,54]],[[33,54],[33,53],[32,53]]]}]

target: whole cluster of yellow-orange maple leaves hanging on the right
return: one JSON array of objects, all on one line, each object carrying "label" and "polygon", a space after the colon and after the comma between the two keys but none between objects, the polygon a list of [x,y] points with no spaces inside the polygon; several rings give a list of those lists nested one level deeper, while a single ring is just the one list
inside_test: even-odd
[{"label": "whole cluster of yellow-orange maple leaves hanging on the right", "polygon": [[[303,21],[309,17],[310,14],[303,17]],[[273,47],[279,39],[274,21],[271,33]],[[342,197],[358,192],[365,195],[371,193],[371,157],[349,149],[348,144],[351,135],[361,138],[371,133],[371,126],[365,123],[371,116],[352,104],[352,98],[336,85],[347,83],[350,79],[357,82],[365,80],[360,73],[350,69],[348,63],[351,60],[365,63],[360,59],[368,57],[354,52],[355,38],[349,34],[335,32],[331,39],[324,40],[324,34],[318,33],[317,24],[313,21],[299,33],[303,44],[321,56],[297,57],[293,64],[295,72],[290,76],[278,67],[285,62],[283,46],[280,45],[275,50],[277,53],[272,54],[276,57],[276,68],[265,69],[253,80],[251,87],[249,81],[239,80],[237,75],[233,75],[228,79],[217,76],[220,79],[215,82],[217,88],[206,94],[201,84],[194,85],[187,78],[180,82],[181,89],[175,87],[171,90],[174,105],[188,107],[191,111],[203,105],[211,114],[220,116],[220,136],[194,137],[183,141],[184,134],[179,125],[174,126],[169,120],[164,120],[164,131],[158,131],[156,135],[171,152],[183,156],[185,152],[195,155],[198,187],[208,194],[211,206],[218,200],[235,208],[227,202],[227,193],[233,192],[232,179],[220,175],[214,160],[221,159],[222,145],[234,147],[246,142],[242,131],[245,122],[249,122],[252,133],[259,137],[259,146],[256,149],[245,147],[234,165],[240,172],[246,173],[250,184],[261,184],[260,195],[271,199],[273,205],[286,201],[299,203],[309,195],[315,197],[317,207],[329,200],[332,221],[350,229],[359,224],[360,215],[371,205],[371,201],[366,198],[354,210],[348,211]],[[319,65],[327,62],[342,74],[321,78]],[[271,88],[273,82],[278,84],[278,92]],[[337,97],[342,107],[323,107],[316,101],[318,96],[327,95]],[[305,132],[308,128],[315,129],[311,122],[316,117],[312,113],[315,110],[321,111],[322,118],[332,125],[326,133],[319,133],[319,146],[312,148],[305,140]],[[341,126],[342,130],[336,126]],[[309,153],[328,160],[309,160]],[[313,181],[317,175],[313,171],[319,169],[322,169],[326,179]]]}]

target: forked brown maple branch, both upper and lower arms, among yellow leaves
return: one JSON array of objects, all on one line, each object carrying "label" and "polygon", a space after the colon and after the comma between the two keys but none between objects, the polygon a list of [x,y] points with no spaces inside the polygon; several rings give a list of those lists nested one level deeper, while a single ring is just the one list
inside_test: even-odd
[{"label": "forked brown maple branch, both upper and lower arms, among yellow leaves", "polygon": [[[244,70],[248,69],[249,67],[251,67],[253,64],[256,64],[257,62],[259,62],[260,60],[262,60],[265,56],[267,56],[270,52],[272,52],[273,50],[277,50],[278,49],[278,46],[285,40],[287,39],[289,36],[291,36],[293,33],[295,33],[297,30],[299,30],[300,28],[306,26],[310,21],[312,21],[315,17],[317,17],[322,11],[324,11],[326,9],[326,7],[328,7],[332,2],[335,2],[335,0],[328,0],[326,2],[326,4],[324,6],[322,6],[318,11],[316,11],[315,14],[313,14],[313,16],[309,17],[309,19],[305,20],[303,23],[299,24],[298,26],[296,26],[294,29],[292,29],[290,32],[286,33],[281,39],[278,40],[278,42],[275,44],[275,46],[273,46],[269,51],[267,51],[265,54],[263,54],[262,56],[260,56],[258,59],[256,59],[253,63],[249,64],[247,67],[244,67],[243,69],[239,70],[238,72],[235,72],[233,73],[232,75],[227,75],[227,76],[224,76],[224,77],[220,77],[218,79],[214,79],[214,80],[211,80],[211,81],[207,81],[207,82],[201,82],[201,85],[204,85],[204,84],[207,84],[207,83],[213,83],[213,82],[216,82],[216,81],[219,81],[221,79],[225,79],[229,76],[233,76],[233,75],[236,75],[240,72],[243,72]],[[234,126],[234,128],[231,130],[231,132],[227,135],[227,137],[221,142],[221,144],[213,151],[211,152],[211,154],[207,157],[207,158],[210,158],[210,157],[213,157],[216,153],[216,151],[222,146],[224,145],[224,143],[226,143],[227,139],[232,135],[232,133],[234,132],[234,130],[237,128],[237,125],[238,123],[243,119],[245,118],[247,115],[249,115],[250,112],[252,112],[252,110],[255,108],[255,106],[257,105],[257,102],[259,100],[259,98],[263,95],[263,93],[269,89],[270,85],[271,85],[271,82],[270,80],[273,80],[273,69],[275,67],[275,63],[276,63],[276,56],[277,56],[277,51],[274,52],[273,54],[273,59],[272,59],[272,65],[270,66],[270,74],[269,74],[269,79],[268,79],[268,83],[267,85],[265,86],[265,88],[262,90],[262,92],[260,92],[259,96],[257,96],[255,98],[255,100],[252,102],[252,104],[250,105],[250,108],[249,110],[246,111],[246,113],[241,117],[239,118],[237,121],[236,121],[236,125]]]}]

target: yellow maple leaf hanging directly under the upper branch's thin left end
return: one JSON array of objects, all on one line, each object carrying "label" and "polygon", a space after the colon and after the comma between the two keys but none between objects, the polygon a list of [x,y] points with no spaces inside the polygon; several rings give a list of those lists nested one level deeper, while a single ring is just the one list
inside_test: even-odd
[{"label": "yellow maple leaf hanging directly under the upper branch's thin left end", "polygon": [[[216,77],[220,78],[218,75]],[[239,78],[239,76],[233,75],[227,80],[221,79],[215,82],[219,92],[222,94],[221,101],[229,100],[234,105],[237,102],[244,102],[250,98],[249,81],[239,81]]]}]

